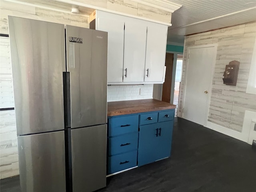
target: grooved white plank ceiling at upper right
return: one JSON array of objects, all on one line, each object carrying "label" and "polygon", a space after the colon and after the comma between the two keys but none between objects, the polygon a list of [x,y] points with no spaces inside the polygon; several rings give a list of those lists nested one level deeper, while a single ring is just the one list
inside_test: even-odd
[{"label": "grooved white plank ceiling at upper right", "polygon": [[188,35],[256,21],[256,0],[168,0],[182,7],[172,13],[172,35]]}]

